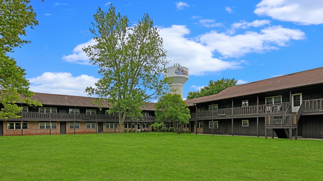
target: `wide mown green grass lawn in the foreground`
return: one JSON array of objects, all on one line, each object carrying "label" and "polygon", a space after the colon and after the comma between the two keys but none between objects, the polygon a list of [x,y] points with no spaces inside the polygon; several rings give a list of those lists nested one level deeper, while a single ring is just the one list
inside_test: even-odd
[{"label": "wide mown green grass lawn in the foreground", "polygon": [[323,142],[176,133],[0,137],[0,180],[322,180]]}]

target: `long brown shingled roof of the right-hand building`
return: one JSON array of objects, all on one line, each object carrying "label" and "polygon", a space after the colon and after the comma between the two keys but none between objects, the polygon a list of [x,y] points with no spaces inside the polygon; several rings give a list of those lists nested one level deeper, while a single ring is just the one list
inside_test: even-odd
[{"label": "long brown shingled roof of the right-hand building", "polygon": [[214,100],[224,100],[240,96],[252,94],[266,93],[276,90],[285,90],[308,85],[316,85],[323,83],[323,67],[300,71],[287,75],[282,75],[261,81],[255,81],[242,85],[236,85],[226,88],[218,94],[204,96],[200,98],[185,100],[188,106],[193,106],[194,103],[203,103]]}]

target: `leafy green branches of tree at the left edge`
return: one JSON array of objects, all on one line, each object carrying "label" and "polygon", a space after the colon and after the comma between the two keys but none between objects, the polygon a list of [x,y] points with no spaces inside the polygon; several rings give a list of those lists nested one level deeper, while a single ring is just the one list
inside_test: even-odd
[{"label": "leafy green branches of tree at the left edge", "polygon": [[30,41],[22,40],[26,36],[26,27],[33,29],[38,24],[36,13],[27,0],[1,0],[0,3],[0,119],[18,118],[16,115],[22,108],[16,102],[41,106],[36,100],[31,100],[33,92],[25,79],[25,70],[16,65],[13,58],[7,56]]}]

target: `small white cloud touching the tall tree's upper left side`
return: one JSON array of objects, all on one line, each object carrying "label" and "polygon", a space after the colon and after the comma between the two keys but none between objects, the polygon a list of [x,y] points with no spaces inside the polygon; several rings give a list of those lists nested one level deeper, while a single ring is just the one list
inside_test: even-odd
[{"label": "small white cloud touching the tall tree's upper left side", "polygon": [[73,54],[63,55],[62,59],[70,63],[90,65],[91,63],[89,62],[89,57],[86,55],[85,52],[83,52],[82,48],[95,44],[96,42],[93,39],[89,40],[86,43],[79,44],[73,49]]}]

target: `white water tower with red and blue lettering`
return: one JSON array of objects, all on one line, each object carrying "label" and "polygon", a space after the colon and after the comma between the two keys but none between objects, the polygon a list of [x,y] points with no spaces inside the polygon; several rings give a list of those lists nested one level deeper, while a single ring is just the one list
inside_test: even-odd
[{"label": "white water tower with red and blue lettering", "polygon": [[183,85],[188,80],[188,68],[182,67],[180,64],[174,63],[174,66],[167,68],[167,77],[174,78],[174,81],[171,85],[171,89],[177,89],[171,91],[172,94],[177,93],[183,98]]}]

